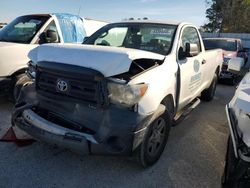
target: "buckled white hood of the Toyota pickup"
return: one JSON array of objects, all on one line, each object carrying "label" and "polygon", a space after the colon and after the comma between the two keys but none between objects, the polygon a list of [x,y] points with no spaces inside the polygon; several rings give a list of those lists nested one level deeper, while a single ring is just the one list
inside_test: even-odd
[{"label": "buckled white hood of the Toyota pickup", "polygon": [[91,68],[110,77],[127,72],[133,60],[163,60],[165,56],[128,48],[82,45],[46,44],[29,53],[35,63],[48,61]]}]

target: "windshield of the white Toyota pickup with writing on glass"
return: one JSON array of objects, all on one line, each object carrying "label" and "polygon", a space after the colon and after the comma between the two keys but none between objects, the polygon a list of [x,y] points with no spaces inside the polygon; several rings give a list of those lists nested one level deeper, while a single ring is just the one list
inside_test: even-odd
[{"label": "windshield of the white Toyota pickup with writing on glass", "polygon": [[84,44],[145,50],[167,55],[177,26],[151,23],[109,24],[88,38]]}]

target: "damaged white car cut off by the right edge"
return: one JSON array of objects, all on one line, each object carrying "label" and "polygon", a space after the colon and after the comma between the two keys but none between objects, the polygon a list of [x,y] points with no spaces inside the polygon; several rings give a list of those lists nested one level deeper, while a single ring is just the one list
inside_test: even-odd
[{"label": "damaged white car cut off by the right edge", "polygon": [[224,188],[250,187],[250,73],[226,106],[230,136],[222,184]]}]

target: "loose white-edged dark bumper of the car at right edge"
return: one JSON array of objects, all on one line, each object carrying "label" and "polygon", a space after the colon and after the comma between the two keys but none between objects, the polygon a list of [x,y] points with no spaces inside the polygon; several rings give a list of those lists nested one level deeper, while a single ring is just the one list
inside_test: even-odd
[{"label": "loose white-edged dark bumper of the car at right edge", "polygon": [[235,157],[238,159],[243,160],[244,162],[249,163],[250,165],[250,156],[246,155],[244,151],[244,147],[247,147],[242,139],[240,138],[238,131],[237,131],[237,119],[234,117],[232,110],[226,105],[226,114],[228,119],[228,125],[230,130],[230,135],[233,142],[234,154]]}]

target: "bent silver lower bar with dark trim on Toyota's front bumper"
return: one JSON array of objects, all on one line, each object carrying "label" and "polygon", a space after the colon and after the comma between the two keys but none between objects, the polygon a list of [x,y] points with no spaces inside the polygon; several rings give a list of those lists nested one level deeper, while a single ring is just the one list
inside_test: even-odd
[{"label": "bent silver lower bar with dark trim on Toyota's front bumper", "polygon": [[24,110],[22,116],[15,119],[15,125],[38,140],[70,148],[83,154],[89,153],[88,140],[97,144],[92,135],[48,122],[30,109]]}]

